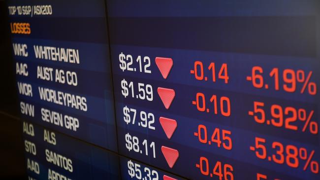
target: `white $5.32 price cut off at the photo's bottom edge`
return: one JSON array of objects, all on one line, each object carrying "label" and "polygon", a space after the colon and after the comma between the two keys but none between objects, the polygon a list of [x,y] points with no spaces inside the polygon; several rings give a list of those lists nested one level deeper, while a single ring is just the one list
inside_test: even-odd
[{"label": "white $5.32 price cut off at the photo's bottom edge", "polygon": [[146,173],[145,176],[142,175],[140,164],[133,163],[131,160],[128,161],[128,174],[131,178],[135,177],[138,180],[159,180],[158,172],[155,170],[144,167],[144,173]]}]

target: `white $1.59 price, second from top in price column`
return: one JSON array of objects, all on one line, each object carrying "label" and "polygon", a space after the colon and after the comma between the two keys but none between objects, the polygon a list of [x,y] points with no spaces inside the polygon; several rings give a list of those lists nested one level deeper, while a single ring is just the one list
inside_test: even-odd
[{"label": "white $1.59 price, second from top in price column", "polygon": [[131,94],[132,98],[137,98],[141,100],[147,99],[148,101],[153,100],[153,90],[151,85],[138,83],[138,93],[135,94],[133,82],[132,81],[128,82],[127,80],[123,79],[121,81],[121,88],[122,88],[121,93],[123,96],[125,96],[125,98],[127,98],[127,96]]}]

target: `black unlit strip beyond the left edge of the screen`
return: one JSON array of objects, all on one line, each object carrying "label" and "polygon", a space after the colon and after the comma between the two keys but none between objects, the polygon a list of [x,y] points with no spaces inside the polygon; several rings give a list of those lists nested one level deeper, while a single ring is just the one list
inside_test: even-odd
[{"label": "black unlit strip beyond the left edge of the screen", "polygon": [[5,7],[5,1],[0,0],[0,179],[23,180],[26,177],[24,147]]}]

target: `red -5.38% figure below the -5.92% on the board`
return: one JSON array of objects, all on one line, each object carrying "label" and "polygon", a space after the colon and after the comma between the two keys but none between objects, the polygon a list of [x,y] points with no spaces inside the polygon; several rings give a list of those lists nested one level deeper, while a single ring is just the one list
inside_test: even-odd
[{"label": "red -5.38% figure below the -5.92% on the board", "polygon": [[[280,142],[267,144],[264,138],[255,138],[255,145],[250,147],[259,159],[267,159],[277,164],[286,164],[291,168],[303,167],[306,171],[308,168],[314,174],[319,173],[319,162],[314,159],[315,150],[298,148],[294,145],[283,145]],[[301,161],[304,161],[302,163]],[[302,166],[301,166],[302,165]]]}]

